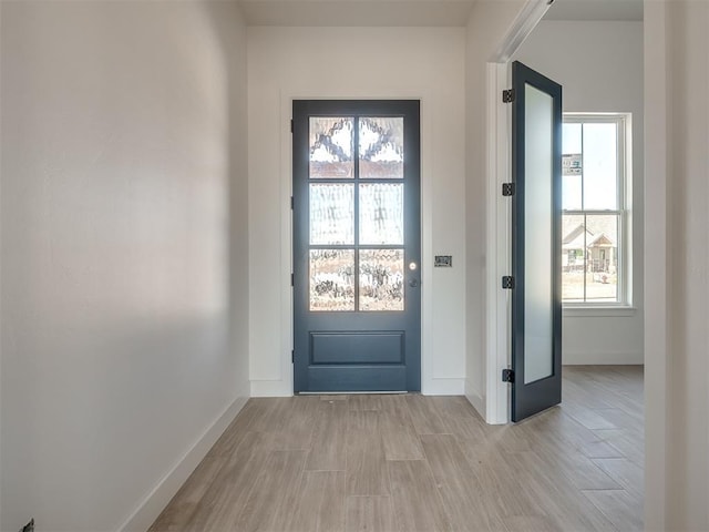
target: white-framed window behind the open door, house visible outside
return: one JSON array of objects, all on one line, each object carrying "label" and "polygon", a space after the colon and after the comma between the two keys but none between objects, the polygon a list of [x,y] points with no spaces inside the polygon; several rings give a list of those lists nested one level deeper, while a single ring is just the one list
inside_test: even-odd
[{"label": "white-framed window behind the open door, house visible outside", "polygon": [[564,114],[562,300],[627,305],[626,114]]}]

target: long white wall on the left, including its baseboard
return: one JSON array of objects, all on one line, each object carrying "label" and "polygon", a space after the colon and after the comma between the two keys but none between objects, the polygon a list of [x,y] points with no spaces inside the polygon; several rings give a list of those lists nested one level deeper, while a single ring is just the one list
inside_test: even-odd
[{"label": "long white wall on the left, including its baseboard", "polygon": [[1,10],[0,528],[145,530],[249,391],[244,24]]}]

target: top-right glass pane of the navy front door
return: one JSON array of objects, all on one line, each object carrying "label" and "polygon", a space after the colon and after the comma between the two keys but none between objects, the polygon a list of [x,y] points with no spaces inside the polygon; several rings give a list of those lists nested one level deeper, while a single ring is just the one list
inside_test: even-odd
[{"label": "top-right glass pane of the navy front door", "polygon": [[359,119],[359,176],[403,177],[403,119]]}]

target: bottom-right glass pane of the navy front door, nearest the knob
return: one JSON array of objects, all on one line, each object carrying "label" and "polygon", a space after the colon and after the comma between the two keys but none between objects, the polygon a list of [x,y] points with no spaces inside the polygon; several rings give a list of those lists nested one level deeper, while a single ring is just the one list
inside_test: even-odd
[{"label": "bottom-right glass pane of the navy front door, nearest the knob", "polygon": [[403,249],[361,249],[359,286],[360,310],[403,310]]}]

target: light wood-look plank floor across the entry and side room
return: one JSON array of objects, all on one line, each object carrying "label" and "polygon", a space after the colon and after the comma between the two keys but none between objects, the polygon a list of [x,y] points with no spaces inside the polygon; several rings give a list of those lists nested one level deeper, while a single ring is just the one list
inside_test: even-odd
[{"label": "light wood-look plank floor across the entry and side room", "polygon": [[250,399],[150,530],[641,530],[643,368],[564,375],[504,427],[462,397]]}]

